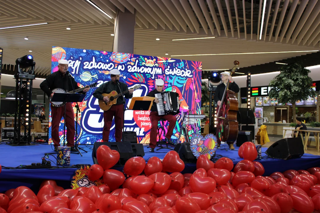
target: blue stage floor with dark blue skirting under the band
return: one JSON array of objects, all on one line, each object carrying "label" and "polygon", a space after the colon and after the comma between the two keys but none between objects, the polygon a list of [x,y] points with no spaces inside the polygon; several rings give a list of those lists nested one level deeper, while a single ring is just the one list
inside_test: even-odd
[{"label": "blue stage floor with dark blue skirting under the band", "polygon": [[[80,145],[88,153],[82,151],[82,155],[71,154],[70,165],[79,164],[93,164],[92,161],[92,145]],[[237,149],[229,150],[227,145],[221,144],[221,148],[217,149],[216,156],[213,161],[216,161],[220,157],[229,157],[236,165],[239,161],[243,160],[238,156]],[[264,176],[270,175],[275,171],[286,171],[288,169],[300,170],[308,169],[310,167],[318,167],[320,165],[320,156],[304,154],[301,158],[291,160],[278,160],[270,159],[264,153],[267,148],[262,148],[262,159],[259,162],[264,166]],[[0,164],[2,165],[2,172],[0,173],[0,193],[18,186],[28,186],[31,189],[37,191],[40,183],[43,179],[57,180],[58,185],[64,188],[70,188],[70,182],[72,176],[75,174],[77,168],[54,168],[54,169],[20,169],[20,165],[30,165],[31,163],[41,163],[44,153],[52,152],[53,146],[47,144],[37,144],[35,146],[9,146],[6,144],[0,145]],[[154,153],[149,152],[149,148],[144,147],[145,156],[144,159],[148,159],[152,156],[157,156],[163,159],[165,154],[170,151],[169,149],[161,149]],[[56,157],[56,155],[53,155]],[[49,156],[52,160],[52,166],[55,166],[56,159],[53,156]],[[6,169],[4,167],[11,167]],[[15,168],[17,167],[17,168]],[[19,168],[20,167],[20,168]],[[123,166],[118,165],[113,169],[122,171]],[[188,163],[185,166],[184,171],[181,173],[193,173],[196,170],[195,163]]]}]

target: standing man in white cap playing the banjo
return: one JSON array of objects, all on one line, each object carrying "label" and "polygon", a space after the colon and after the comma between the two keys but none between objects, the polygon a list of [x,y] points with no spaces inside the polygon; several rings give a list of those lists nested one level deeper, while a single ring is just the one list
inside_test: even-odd
[{"label": "standing man in white cap playing the banjo", "polygon": [[[74,88],[78,90],[76,92],[86,93],[89,91],[89,86],[80,88],[77,85],[76,80],[68,72],[68,61],[61,59],[58,61],[59,71],[50,74],[46,80],[40,84],[40,88],[48,95],[49,100],[52,98],[55,92],[69,92]],[[71,91],[72,92],[72,91]],[[69,92],[69,93],[71,93]],[[75,115],[71,103],[58,103],[55,105],[51,103],[51,131],[52,131],[52,141],[54,143],[54,151],[57,151],[58,146],[60,146],[59,138],[59,124],[62,117],[65,115],[65,124],[68,129],[67,131],[67,146],[71,147],[72,152],[77,152],[74,148],[74,137],[75,137]],[[65,111],[66,109],[66,111]]]}]

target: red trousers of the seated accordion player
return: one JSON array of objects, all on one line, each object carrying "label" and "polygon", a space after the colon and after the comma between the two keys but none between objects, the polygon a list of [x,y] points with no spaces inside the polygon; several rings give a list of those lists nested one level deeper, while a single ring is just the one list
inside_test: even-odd
[{"label": "red trousers of the seated accordion player", "polygon": [[173,133],[174,126],[176,126],[177,118],[173,115],[162,115],[159,116],[158,112],[150,112],[150,121],[151,121],[151,129],[150,129],[150,148],[155,148],[157,145],[157,130],[158,130],[158,122],[160,118],[163,118],[169,121],[168,132],[165,137],[170,139]]}]

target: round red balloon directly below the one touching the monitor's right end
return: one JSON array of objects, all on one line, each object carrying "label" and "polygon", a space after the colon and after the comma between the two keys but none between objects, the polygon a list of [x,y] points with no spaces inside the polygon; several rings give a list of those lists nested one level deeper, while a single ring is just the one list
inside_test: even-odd
[{"label": "round red balloon directly below the one touching the monitor's right end", "polygon": [[[150,177],[150,176],[149,176]],[[129,189],[134,194],[146,194],[154,186],[154,181],[146,176],[135,176],[129,182]]]}]

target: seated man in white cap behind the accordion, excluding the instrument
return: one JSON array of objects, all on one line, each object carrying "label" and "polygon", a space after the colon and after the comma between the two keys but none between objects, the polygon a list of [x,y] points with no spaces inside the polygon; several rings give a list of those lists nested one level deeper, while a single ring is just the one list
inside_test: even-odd
[{"label": "seated man in white cap behind the accordion, excluding the instrument", "polygon": [[[162,79],[157,79],[156,89],[149,92],[147,96],[156,97],[155,94],[161,93],[163,91],[163,87],[164,87],[164,81]],[[162,118],[169,121],[168,131],[165,135],[165,141],[167,143],[171,143],[171,136],[177,121],[177,118],[174,115],[159,116],[158,110],[157,110],[157,103],[159,103],[159,100],[155,98],[154,103],[152,104],[152,107],[151,107],[151,112],[150,112],[150,122],[151,122],[150,144],[149,144],[150,152],[154,152],[154,149],[156,148],[156,145],[157,145],[157,129],[158,129],[159,120]],[[181,101],[178,101],[178,104],[180,103]]]}]

